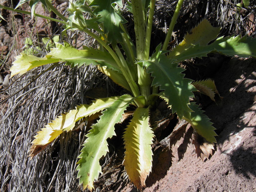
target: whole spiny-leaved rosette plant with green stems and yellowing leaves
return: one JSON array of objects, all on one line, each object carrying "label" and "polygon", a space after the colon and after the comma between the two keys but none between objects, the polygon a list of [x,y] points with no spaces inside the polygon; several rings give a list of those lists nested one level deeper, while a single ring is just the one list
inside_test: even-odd
[{"label": "whole spiny-leaved rosette plant with green stems and yellowing leaves", "polygon": [[[17,5],[29,0],[22,0]],[[155,0],[129,0],[126,9],[133,14],[135,42],[126,30],[126,19],[121,15],[122,0],[70,0],[68,16],[63,16],[48,0],[40,0],[60,20],[34,13],[38,1],[29,1],[32,12],[9,7],[8,10],[32,14],[63,24],[67,30],[80,30],[98,42],[98,48],[76,49],[69,43],[56,43],[44,57],[21,53],[16,57],[10,71],[11,76],[22,74],[35,67],[52,63],[65,63],[71,67],[96,65],[115,83],[127,90],[127,94],[99,98],[90,105],[81,104],[58,116],[40,130],[32,141],[30,156],[33,157],[55,140],[64,131],[72,131],[82,118],[101,112],[97,123],[91,126],[87,139],[78,156],[78,178],[83,188],[93,190],[93,183],[101,173],[99,160],[108,152],[107,139],[115,133],[115,124],[121,123],[127,107],[133,105],[130,123],[123,135],[125,145],[124,167],[130,181],[138,188],[145,187],[145,180],[152,167],[154,132],[150,126],[150,109],[162,98],[172,113],[184,119],[194,128],[194,134],[203,138],[197,146],[208,158],[216,143],[215,128],[200,107],[190,98],[200,91],[214,100],[218,94],[214,81],[193,82],[184,78],[185,69],[178,63],[186,59],[207,56],[217,52],[229,56],[256,56],[256,40],[251,37],[218,37],[220,28],[212,27],[203,20],[184,37],[174,49],[168,50],[171,34],[183,4],[179,0],[163,44],[155,47],[150,55],[150,38],[155,11]],[[86,16],[86,17],[85,17]],[[209,43],[211,42],[211,43]],[[204,158],[203,157],[203,158]]]}]

